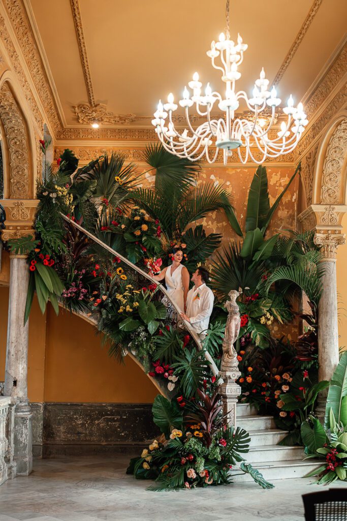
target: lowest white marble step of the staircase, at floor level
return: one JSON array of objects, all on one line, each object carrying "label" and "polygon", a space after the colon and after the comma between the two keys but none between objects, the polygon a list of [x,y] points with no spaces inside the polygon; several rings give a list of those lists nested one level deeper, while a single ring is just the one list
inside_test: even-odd
[{"label": "lowest white marble step of the staircase, at floor level", "polygon": [[[275,479],[288,479],[288,478],[302,478],[311,470],[318,467],[321,463],[320,460],[310,462],[302,460],[291,460],[291,461],[270,461],[266,463],[257,463],[254,465],[255,468],[262,473],[267,481],[273,481]],[[231,475],[239,474],[240,470],[235,469],[231,471]],[[248,474],[238,475],[235,477],[235,482],[248,482],[253,481],[251,476]]]}]

